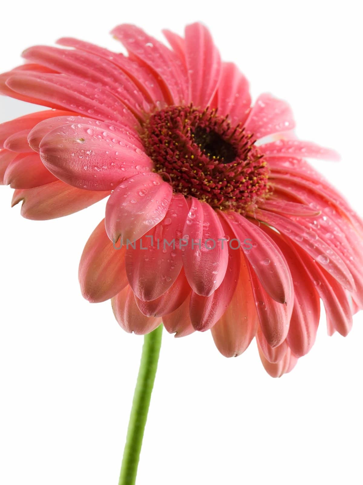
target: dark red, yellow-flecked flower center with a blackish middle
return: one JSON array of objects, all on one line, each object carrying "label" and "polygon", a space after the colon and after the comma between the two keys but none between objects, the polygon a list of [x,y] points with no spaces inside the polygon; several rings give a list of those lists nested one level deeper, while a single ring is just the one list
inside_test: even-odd
[{"label": "dark red, yellow-flecked flower center with a blackish middle", "polygon": [[175,192],[240,212],[267,193],[269,170],[252,135],[215,109],[167,107],[150,116],[143,139],[154,171]]}]

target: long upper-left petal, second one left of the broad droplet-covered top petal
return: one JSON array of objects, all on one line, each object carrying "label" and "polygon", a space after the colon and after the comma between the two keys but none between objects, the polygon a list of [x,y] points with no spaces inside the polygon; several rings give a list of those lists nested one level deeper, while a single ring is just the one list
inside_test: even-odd
[{"label": "long upper-left petal, second one left of the broad droplet-covered top petal", "polygon": [[60,73],[104,86],[141,119],[145,117],[145,112],[150,110],[136,84],[113,63],[99,56],[80,50],[47,46],[30,47],[22,56],[28,61],[45,65]]}]

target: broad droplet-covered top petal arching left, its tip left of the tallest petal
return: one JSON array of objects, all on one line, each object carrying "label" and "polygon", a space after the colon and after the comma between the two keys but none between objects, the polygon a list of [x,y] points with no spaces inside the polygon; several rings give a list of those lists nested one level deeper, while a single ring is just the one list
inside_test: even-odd
[{"label": "broad droplet-covered top petal arching left, its tip left of the tallest petal", "polygon": [[173,101],[180,105],[187,99],[187,76],[185,66],[175,52],[167,49],[135,25],[123,24],[111,33],[125,48],[155,71],[165,83],[166,90]]}]

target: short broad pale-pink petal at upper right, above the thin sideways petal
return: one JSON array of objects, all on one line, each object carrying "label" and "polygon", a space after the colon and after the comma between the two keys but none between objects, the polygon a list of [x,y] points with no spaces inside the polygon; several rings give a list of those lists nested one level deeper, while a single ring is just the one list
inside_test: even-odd
[{"label": "short broad pale-pink petal at upper right, above the thin sideways petal", "polygon": [[287,102],[266,93],[257,98],[245,123],[246,133],[257,140],[293,128],[295,121]]}]

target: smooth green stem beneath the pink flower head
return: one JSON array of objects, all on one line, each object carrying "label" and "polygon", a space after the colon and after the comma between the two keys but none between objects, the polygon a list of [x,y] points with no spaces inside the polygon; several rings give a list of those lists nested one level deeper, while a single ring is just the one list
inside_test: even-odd
[{"label": "smooth green stem beneath the pink flower head", "polygon": [[140,459],[142,438],[158,366],[163,325],[145,335],[134,400],[132,403],[126,445],[123,451],[119,485],[134,485]]}]

